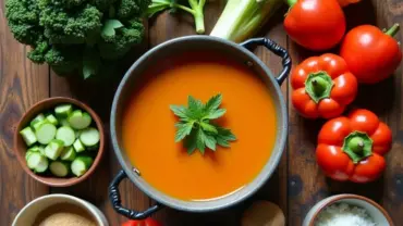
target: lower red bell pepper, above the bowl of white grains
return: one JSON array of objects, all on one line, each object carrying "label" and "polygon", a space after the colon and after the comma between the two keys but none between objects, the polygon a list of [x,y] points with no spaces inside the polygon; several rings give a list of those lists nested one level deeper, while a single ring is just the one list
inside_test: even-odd
[{"label": "lower red bell pepper, above the bowl of white grains", "polygon": [[383,155],[391,146],[392,133],[388,125],[373,112],[361,109],[322,126],[316,160],[333,179],[368,183],[386,168]]}]

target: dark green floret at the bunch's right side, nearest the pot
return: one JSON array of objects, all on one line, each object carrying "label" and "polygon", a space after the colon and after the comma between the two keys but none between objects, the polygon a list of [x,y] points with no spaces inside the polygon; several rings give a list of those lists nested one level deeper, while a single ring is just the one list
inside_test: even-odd
[{"label": "dark green floret at the bunch's right side, nearest the pot", "polygon": [[142,42],[143,32],[142,21],[134,18],[124,23],[124,27],[115,29],[113,36],[101,35],[98,43],[100,56],[107,60],[122,58],[134,45]]}]

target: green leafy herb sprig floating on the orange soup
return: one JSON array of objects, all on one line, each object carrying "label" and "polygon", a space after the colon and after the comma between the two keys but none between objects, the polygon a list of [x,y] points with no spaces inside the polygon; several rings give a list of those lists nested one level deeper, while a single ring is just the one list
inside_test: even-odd
[{"label": "green leafy herb sprig floating on the orange soup", "polygon": [[216,146],[230,147],[230,141],[236,137],[230,129],[220,127],[211,121],[225,114],[225,109],[219,109],[222,96],[217,95],[206,104],[200,100],[188,97],[187,108],[183,105],[170,105],[172,112],[180,118],[175,124],[175,142],[185,139],[187,153],[192,154],[198,149],[203,154],[206,147],[216,151]]}]

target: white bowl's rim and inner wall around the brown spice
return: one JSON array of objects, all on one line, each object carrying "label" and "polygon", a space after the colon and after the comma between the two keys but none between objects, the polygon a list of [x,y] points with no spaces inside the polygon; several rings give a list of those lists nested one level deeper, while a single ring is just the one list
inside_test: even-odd
[{"label": "white bowl's rim and inner wall around the brown spice", "polygon": [[100,210],[96,208],[94,204],[85,200],[78,199],[76,197],[62,193],[48,194],[30,201],[16,215],[12,226],[32,225],[36,216],[41,211],[57,203],[70,203],[81,206],[82,209],[88,211],[88,213],[93,216],[98,226],[109,226],[108,221],[105,217],[103,213],[100,212]]}]

